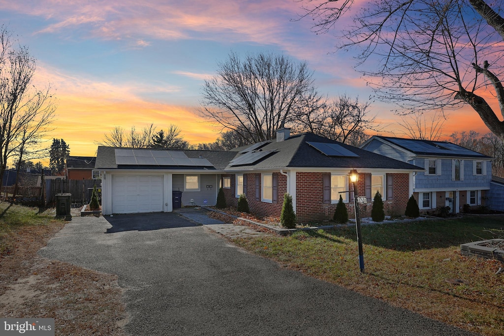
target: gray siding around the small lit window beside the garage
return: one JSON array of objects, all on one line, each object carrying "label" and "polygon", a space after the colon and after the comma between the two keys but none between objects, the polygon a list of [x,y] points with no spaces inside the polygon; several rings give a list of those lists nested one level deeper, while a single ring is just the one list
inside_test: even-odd
[{"label": "gray siding around the small lit window beside the garage", "polygon": [[[182,207],[191,205],[191,198],[197,206],[215,206],[219,191],[217,182],[217,175],[201,174],[200,191],[184,191],[184,175],[173,174],[173,190],[182,191]],[[212,188],[207,188],[207,185],[211,185]],[[207,204],[204,203],[205,199]]]}]

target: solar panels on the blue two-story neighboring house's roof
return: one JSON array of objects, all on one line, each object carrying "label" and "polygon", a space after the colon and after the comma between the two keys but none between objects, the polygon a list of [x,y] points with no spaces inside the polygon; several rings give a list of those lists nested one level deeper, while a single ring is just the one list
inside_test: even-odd
[{"label": "solar panels on the blue two-story neighboring house's roof", "polygon": [[424,142],[409,139],[387,138],[390,142],[417,153],[448,154],[460,156],[484,157],[485,155],[467,148],[445,142]]}]

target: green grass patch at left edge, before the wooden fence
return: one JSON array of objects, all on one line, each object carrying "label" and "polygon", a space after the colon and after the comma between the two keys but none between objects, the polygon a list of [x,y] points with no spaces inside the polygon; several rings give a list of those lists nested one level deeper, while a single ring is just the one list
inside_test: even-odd
[{"label": "green grass patch at left edge, before the wooden fence", "polygon": [[24,227],[48,225],[53,216],[39,214],[37,208],[0,202],[0,255],[9,249],[8,236]]}]

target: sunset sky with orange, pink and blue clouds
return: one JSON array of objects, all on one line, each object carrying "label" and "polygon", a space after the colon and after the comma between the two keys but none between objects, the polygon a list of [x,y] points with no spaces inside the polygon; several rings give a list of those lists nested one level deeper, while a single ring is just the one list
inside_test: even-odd
[{"label": "sunset sky with orange, pink and blue clouds", "polygon": [[[37,86],[51,85],[57,117],[51,138],[71,155],[93,156],[114,126],[157,130],[176,124],[192,144],[213,142],[218,130],[197,115],[203,80],[230,51],[272,51],[307,60],[321,93],[371,95],[349,52],[337,52],[332,34],[310,31],[311,19],[294,0],[59,1],[0,0],[0,24],[37,59]],[[371,105],[397,129],[396,107]],[[468,126],[470,125],[470,126]],[[488,132],[476,112],[450,112],[445,133]]]}]

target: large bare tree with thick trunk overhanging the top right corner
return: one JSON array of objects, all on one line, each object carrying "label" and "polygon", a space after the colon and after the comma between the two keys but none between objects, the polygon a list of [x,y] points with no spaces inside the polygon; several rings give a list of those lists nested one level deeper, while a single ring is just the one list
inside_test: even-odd
[{"label": "large bare tree with thick trunk overhanging the top right corner", "polygon": [[[301,0],[313,29],[327,32],[353,0]],[[339,48],[361,47],[358,69],[378,98],[411,111],[470,105],[504,140],[501,2],[376,0],[362,3]],[[491,6],[491,7],[490,7]],[[483,96],[492,91],[499,114]],[[492,98],[490,98],[491,100]]]}]

